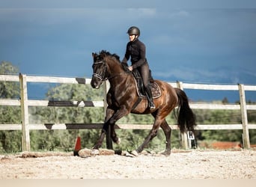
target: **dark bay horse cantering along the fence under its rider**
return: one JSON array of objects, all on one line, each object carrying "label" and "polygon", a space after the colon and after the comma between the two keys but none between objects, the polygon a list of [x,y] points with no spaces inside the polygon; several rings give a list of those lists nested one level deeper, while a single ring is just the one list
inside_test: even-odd
[{"label": "dark bay horse cantering along the fence under its rider", "polygon": [[92,52],[92,57],[94,63],[92,65],[91,87],[98,89],[106,80],[109,80],[110,85],[106,95],[106,102],[108,104],[106,117],[100,138],[93,147],[94,150],[98,150],[102,146],[108,130],[110,130],[112,141],[120,144],[121,140],[115,133],[115,123],[129,113],[152,114],[154,117],[152,129],[150,129],[144,142],[136,150],[132,151],[132,154],[135,156],[138,156],[138,153],[141,153],[149,141],[156,136],[159,127],[162,128],[166,138],[165,150],[162,154],[165,156],[171,154],[171,127],[166,122],[165,117],[175,107],[178,107],[177,125],[180,132],[194,132],[194,127],[196,126],[195,114],[193,114],[192,109],[189,107],[189,99],[186,93],[180,88],[173,88],[167,82],[153,79],[153,82],[159,85],[161,96],[153,99],[156,108],[150,110],[147,107],[147,99],[144,98],[138,102],[139,95],[136,91],[137,85],[134,76],[122,66],[118,55],[102,50],[99,54]]}]

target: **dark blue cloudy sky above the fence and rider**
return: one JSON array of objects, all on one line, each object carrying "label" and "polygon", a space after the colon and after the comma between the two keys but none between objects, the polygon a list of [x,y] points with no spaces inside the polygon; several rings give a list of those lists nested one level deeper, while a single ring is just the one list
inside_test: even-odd
[{"label": "dark blue cloudy sky above the fence and rider", "polygon": [[0,61],[27,75],[91,78],[91,53],[122,59],[135,25],[154,79],[256,85],[255,20],[247,0],[1,0]]}]

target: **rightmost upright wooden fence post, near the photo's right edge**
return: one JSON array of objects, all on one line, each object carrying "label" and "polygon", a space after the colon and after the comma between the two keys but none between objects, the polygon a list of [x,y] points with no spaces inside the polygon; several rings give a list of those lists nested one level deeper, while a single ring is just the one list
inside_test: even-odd
[{"label": "rightmost upright wooden fence post, near the photo's right edge", "polygon": [[242,114],[242,126],[243,126],[243,147],[249,149],[250,138],[249,138],[249,128],[248,128],[248,119],[247,119],[247,108],[246,108],[246,92],[244,85],[239,84],[239,93],[240,93],[240,108]]}]

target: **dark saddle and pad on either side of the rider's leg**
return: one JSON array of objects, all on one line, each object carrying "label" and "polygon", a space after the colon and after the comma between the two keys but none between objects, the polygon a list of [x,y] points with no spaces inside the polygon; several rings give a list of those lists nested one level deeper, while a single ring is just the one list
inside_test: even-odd
[{"label": "dark saddle and pad on either side of the rider's leg", "polygon": [[[133,78],[135,79],[135,84],[136,84],[136,91],[139,97],[146,99],[146,93],[144,91],[144,85],[142,81],[141,74],[138,72],[138,70],[132,71]],[[149,73],[149,87],[152,93],[152,98],[156,99],[159,96],[161,96],[161,90],[159,88],[159,85],[157,85],[156,82],[153,81],[153,78],[151,76],[151,71]]]}]

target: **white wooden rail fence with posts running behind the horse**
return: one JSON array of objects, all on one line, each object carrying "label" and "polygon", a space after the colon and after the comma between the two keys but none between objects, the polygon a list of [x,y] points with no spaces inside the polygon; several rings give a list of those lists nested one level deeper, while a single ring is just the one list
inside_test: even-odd
[{"label": "white wooden rail fence with posts running behind the horse", "polygon": [[[20,105],[22,111],[22,123],[1,123],[0,130],[22,130],[22,150],[30,150],[30,130],[38,129],[101,129],[103,123],[29,123],[28,106],[85,106],[85,107],[104,107],[106,111],[106,98],[101,101],[48,101],[48,100],[32,100],[28,99],[28,82],[44,82],[44,83],[66,83],[66,84],[90,84],[91,79],[84,78],[66,78],[66,77],[49,77],[49,76],[19,76],[0,75],[0,82],[19,82],[20,99],[0,99],[0,105]],[[243,147],[250,147],[249,129],[256,129],[256,124],[248,123],[247,110],[256,110],[256,105],[246,105],[245,91],[256,91],[256,85],[203,85],[191,84],[183,82],[168,82],[173,87],[180,89],[196,89],[196,90],[213,90],[213,91],[239,91],[240,104],[216,104],[216,103],[190,103],[191,108],[197,109],[224,109],[224,110],[240,110],[242,123],[237,124],[198,124],[198,130],[221,130],[221,129],[243,129]],[[104,91],[108,90],[109,84],[104,84]],[[106,96],[106,94],[104,94]],[[177,125],[170,125],[171,129],[178,129]],[[117,129],[150,129],[152,126],[143,124],[117,124]],[[189,147],[189,135],[181,135],[184,148]],[[109,147],[112,147],[112,141],[106,138]]]}]

